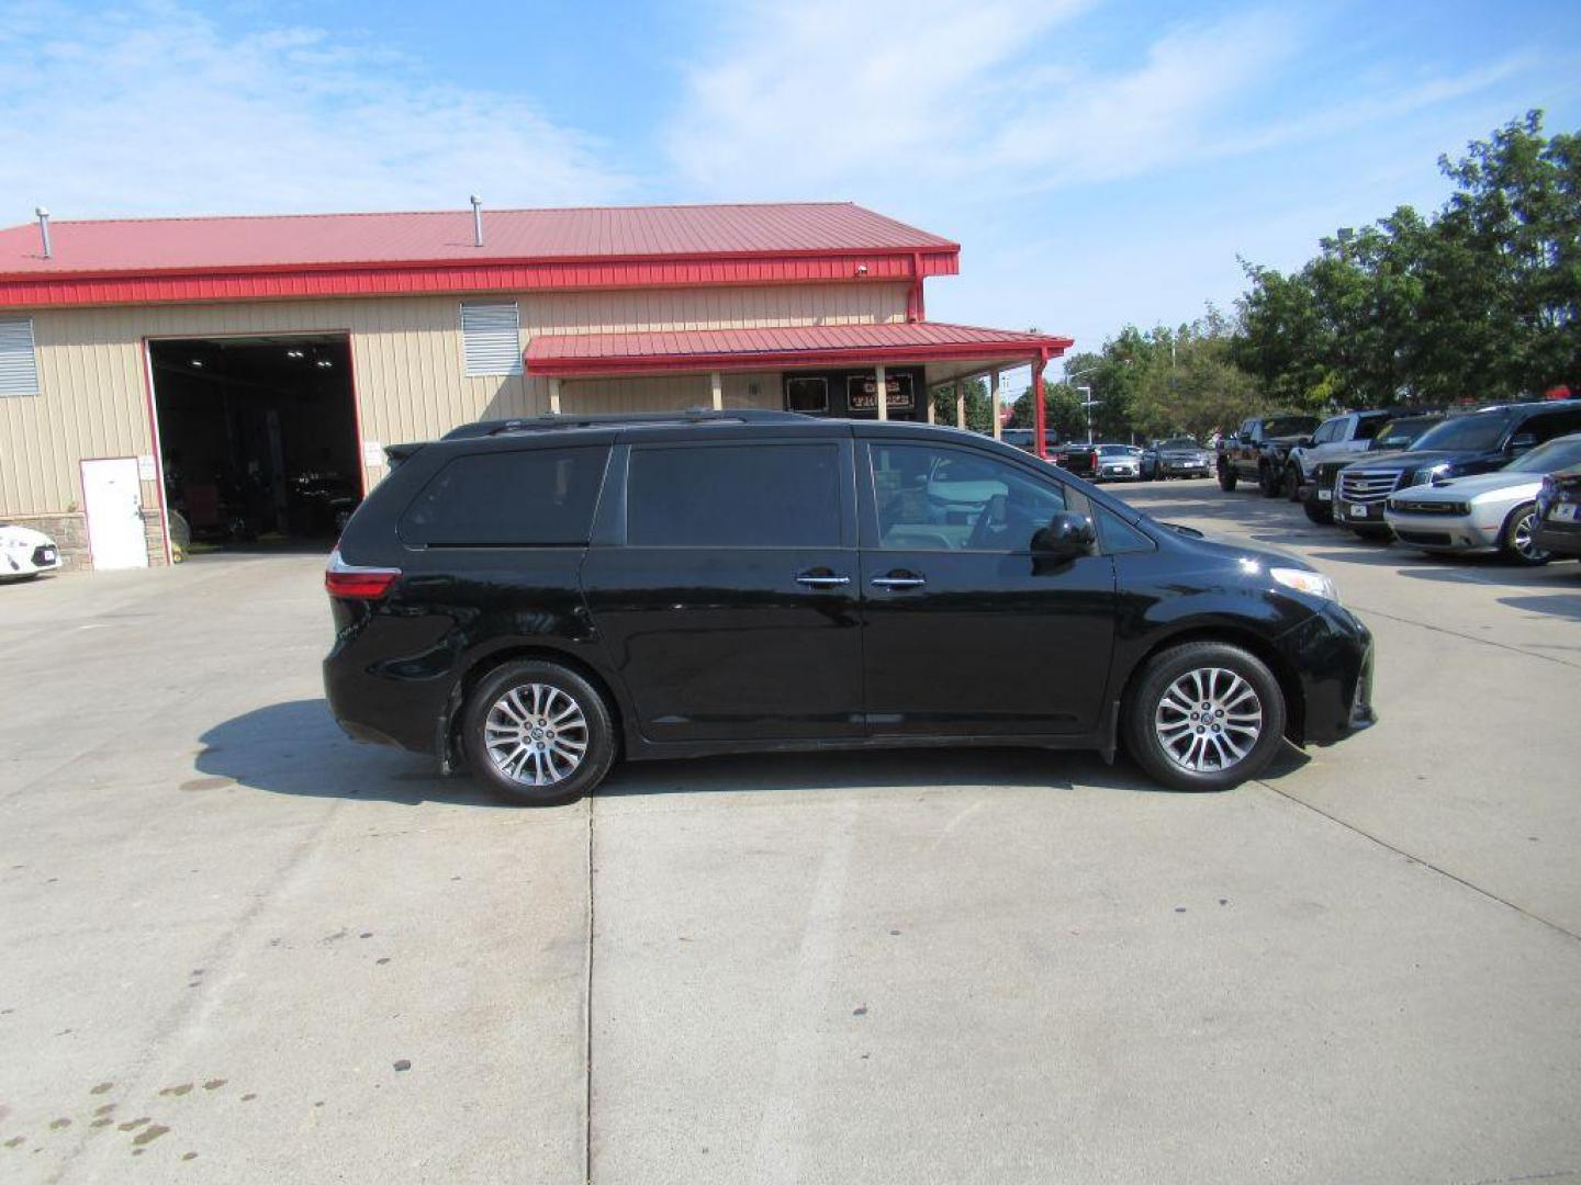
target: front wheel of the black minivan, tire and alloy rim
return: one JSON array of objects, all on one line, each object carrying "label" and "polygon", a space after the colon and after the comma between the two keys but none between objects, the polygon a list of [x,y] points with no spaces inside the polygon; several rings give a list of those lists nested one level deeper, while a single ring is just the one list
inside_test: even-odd
[{"label": "front wheel of the black minivan, tire and alloy rim", "polygon": [[[1190,713],[1200,706],[1195,695],[1184,700],[1183,690],[1195,690],[1202,702],[1214,705],[1209,711],[1217,713],[1217,724],[1209,727],[1217,727],[1217,733],[1195,732],[1200,725]],[[1255,711],[1255,722],[1249,709]],[[1227,717],[1235,724],[1225,725]],[[1251,651],[1224,641],[1187,641],[1154,654],[1137,675],[1123,717],[1126,749],[1172,790],[1228,790],[1255,777],[1284,743],[1284,692],[1273,672]],[[1209,743],[1217,752],[1209,750]],[[1217,765],[1235,752],[1236,743],[1241,755],[1230,765]],[[1198,744],[1200,768],[1192,768]]]}]

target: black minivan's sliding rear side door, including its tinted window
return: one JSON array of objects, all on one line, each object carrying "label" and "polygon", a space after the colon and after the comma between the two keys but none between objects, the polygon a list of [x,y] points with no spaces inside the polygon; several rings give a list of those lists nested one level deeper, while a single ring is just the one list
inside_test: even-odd
[{"label": "black minivan's sliding rear side door, including its tinted window", "polygon": [[860,736],[851,438],[632,444],[624,477],[582,586],[637,730]]}]

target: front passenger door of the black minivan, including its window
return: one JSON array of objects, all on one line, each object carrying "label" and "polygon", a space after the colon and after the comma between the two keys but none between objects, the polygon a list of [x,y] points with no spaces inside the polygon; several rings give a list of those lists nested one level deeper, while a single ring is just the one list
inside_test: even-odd
[{"label": "front passenger door of the black minivan, including its window", "polygon": [[1081,495],[969,446],[876,438],[863,452],[868,732],[1094,732],[1115,638],[1113,561],[1047,566],[1031,553],[1055,510],[1086,509]]}]

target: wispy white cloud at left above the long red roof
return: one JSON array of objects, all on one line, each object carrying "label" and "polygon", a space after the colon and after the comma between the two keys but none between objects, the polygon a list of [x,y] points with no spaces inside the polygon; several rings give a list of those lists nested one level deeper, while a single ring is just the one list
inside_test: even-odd
[{"label": "wispy white cloud at left above the long red roof", "polygon": [[228,36],[179,5],[0,14],[0,194],[57,216],[566,205],[621,198],[601,145],[323,30]]}]

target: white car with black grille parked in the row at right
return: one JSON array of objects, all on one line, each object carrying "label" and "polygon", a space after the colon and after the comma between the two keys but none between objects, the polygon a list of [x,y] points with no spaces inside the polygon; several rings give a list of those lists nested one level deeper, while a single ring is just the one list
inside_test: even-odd
[{"label": "white car with black grille parked in the row at right", "polygon": [[1546,564],[1537,545],[1537,495],[1543,476],[1581,469],[1581,433],[1560,436],[1494,472],[1412,485],[1393,493],[1383,520],[1402,544],[1423,551],[1499,551],[1519,564]]}]

